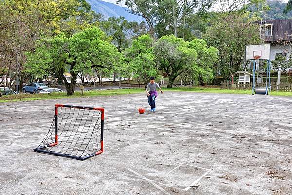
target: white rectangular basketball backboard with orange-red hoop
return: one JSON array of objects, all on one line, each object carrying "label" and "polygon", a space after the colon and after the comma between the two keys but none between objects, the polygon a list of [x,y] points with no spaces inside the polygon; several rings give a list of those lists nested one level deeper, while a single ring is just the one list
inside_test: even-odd
[{"label": "white rectangular basketball backboard with orange-red hoop", "polygon": [[270,43],[245,46],[245,60],[270,59]]}]

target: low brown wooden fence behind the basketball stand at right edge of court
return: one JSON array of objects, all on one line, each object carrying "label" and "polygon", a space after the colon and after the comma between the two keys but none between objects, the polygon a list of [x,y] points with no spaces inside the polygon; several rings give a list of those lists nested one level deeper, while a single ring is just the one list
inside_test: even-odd
[{"label": "low brown wooden fence behind the basketball stand at right edge of court", "polygon": [[[234,82],[233,84],[231,81],[222,81],[221,82],[221,89],[239,89],[239,90],[252,90],[253,83],[252,82],[247,82],[247,83],[238,83]],[[264,87],[262,84],[257,85],[260,87]],[[271,82],[271,89],[272,91],[277,90],[277,83],[276,82]],[[279,85],[279,91],[286,91],[286,92],[292,92],[292,83],[280,83]]]}]

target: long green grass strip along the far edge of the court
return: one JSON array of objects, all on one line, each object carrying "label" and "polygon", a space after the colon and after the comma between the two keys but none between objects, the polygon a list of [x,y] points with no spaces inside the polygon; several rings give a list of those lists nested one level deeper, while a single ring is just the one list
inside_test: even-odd
[{"label": "long green grass strip along the far edge of the court", "polygon": [[[251,94],[251,90],[221,90],[219,87],[174,87],[171,89],[163,88],[164,91],[188,91],[198,93],[218,93],[218,94]],[[0,103],[3,102],[15,102],[15,101],[35,101],[44,99],[61,99],[61,98],[78,98],[78,97],[95,97],[95,96],[113,96],[123,94],[136,94],[144,92],[143,88],[131,88],[131,89],[109,89],[109,90],[92,90],[85,91],[81,95],[80,91],[76,91],[73,96],[67,96],[65,92],[52,93],[52,94],[18,94],[7,95],[0,98]],[[272,96],[292,96],[292,92],[276,92],[269,93]]]}]

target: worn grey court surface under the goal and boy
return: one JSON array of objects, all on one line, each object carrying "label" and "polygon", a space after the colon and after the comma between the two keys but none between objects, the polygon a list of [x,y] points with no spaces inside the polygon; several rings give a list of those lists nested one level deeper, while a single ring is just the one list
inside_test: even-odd
[{"label": "worn grey court surface under the goal and boy", "polygon": [[[105,108],[104,153],[33,151],[56,103]],[[168,91],[148,110],[144,93],[0,103],[0,194],[292,195],[292,98]]]}]

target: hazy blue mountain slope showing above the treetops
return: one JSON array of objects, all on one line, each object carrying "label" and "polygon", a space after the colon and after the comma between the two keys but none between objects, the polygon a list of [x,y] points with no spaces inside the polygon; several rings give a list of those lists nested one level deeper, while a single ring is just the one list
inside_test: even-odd
[{"label": "hazy blue mountain slope showing above the treetops", "polygon": [[[128,21],[143,21],[143,17],[136,16],[134,14],[129,13],[130,11],[127,7],[121,7],[119,5],[105,2],[102,0],[86,0],[90,5],[91,9],[96,13],[100,13],[103,15],[104,19],[108,19],[110,17],[125,17]],[[128,10],[128,11],[127,11]]]}]

